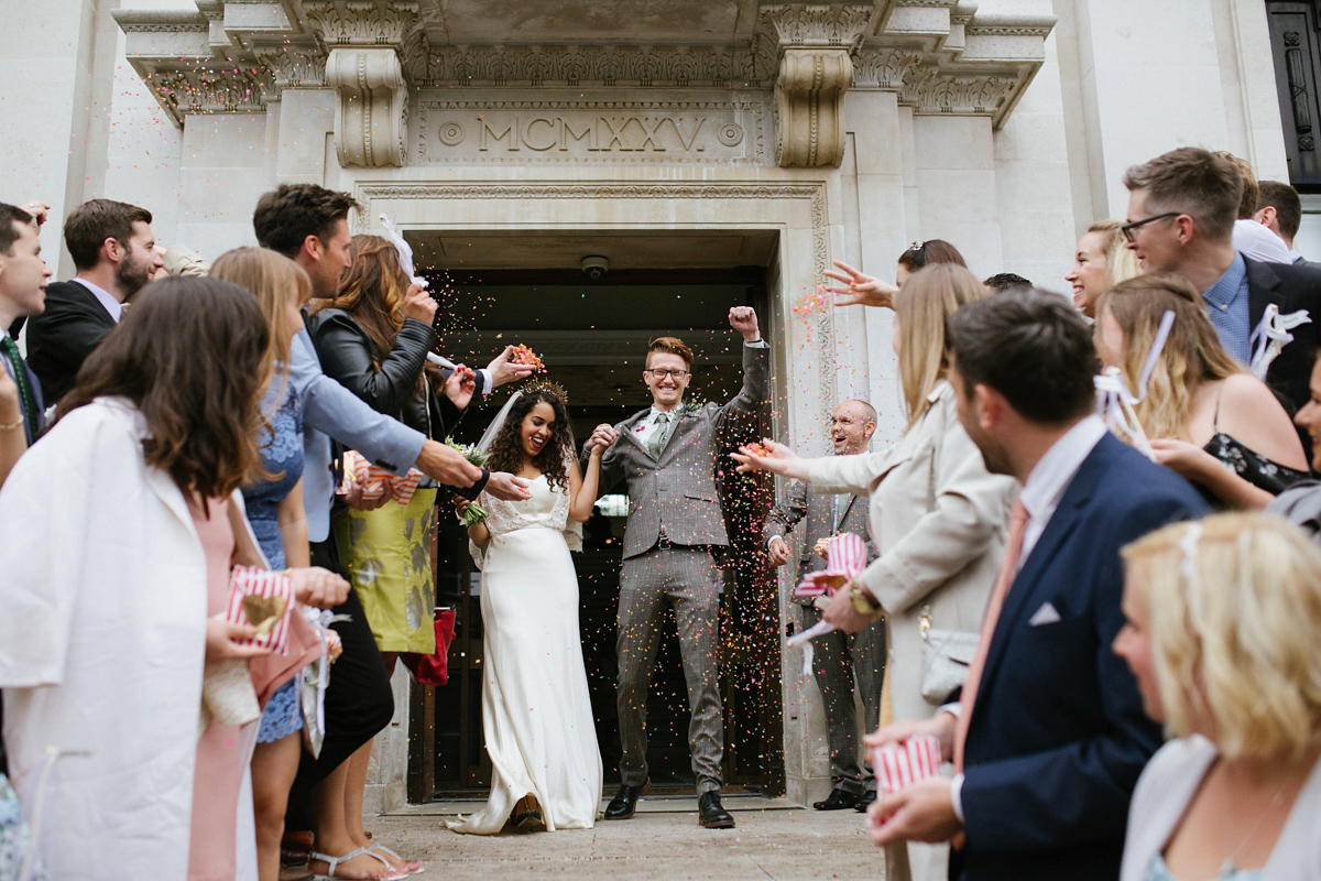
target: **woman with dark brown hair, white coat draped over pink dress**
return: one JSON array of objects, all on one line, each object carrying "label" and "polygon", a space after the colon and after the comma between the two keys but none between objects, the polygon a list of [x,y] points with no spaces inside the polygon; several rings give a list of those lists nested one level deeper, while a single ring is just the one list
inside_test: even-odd
[{"label": "woman with dark brown hair, white coat draped over pink dress", "polygon": [[223,610],[231,567],[262,564],[236,490],[260,473],[267,343],[238,285],[148,285],[0,491],[7,745],[28,796],[48,781],[57,877],[232,878],[252,835],[256,721],[198,738],[198,717],[203,667],[263,654]]}]

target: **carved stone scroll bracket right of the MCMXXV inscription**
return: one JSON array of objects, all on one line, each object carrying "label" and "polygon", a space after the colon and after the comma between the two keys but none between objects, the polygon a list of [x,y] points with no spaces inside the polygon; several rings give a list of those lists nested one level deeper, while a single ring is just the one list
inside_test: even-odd
[{"label": "carved stone scroll bracket right of the MCMXXV inscription", "polygon": [[782,168],[836,166],[844,161],[844,92],[853,82],[845,49],[786,49],[775,81]]}]

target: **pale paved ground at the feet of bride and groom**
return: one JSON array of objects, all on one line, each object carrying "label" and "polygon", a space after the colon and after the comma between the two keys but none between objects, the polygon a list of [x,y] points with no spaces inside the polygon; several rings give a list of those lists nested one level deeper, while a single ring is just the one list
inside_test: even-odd
[{"label": "pale paved ground at the feet of bride and groom", "polygon": [[[647,798],[631,820],[594,829],[457,835],[444,820],[481,802],[437,802],[369,820],[376,841],[427,866],[419,881],[480,878],[884,878],[881,852],[855,811],[727,795],[736,829],[697,827],[696,798]],[[604,803],[602,803],[604,807]]]}]

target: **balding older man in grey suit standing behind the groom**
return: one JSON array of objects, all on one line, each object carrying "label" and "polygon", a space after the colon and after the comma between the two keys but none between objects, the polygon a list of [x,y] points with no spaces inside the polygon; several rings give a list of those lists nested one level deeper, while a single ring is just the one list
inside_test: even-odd
[{"label": "balding older man in grey suit standing behind the groom", "polygon": [[[845,400],[831,413],[831,442],[836,456],[865,453],[876,433],[876,409],[864,400]],[[762,538],[766,556],[774,565],[789,563],[791,549],[785,536],[806,518],[803,552],[798,559],[798,577],[826,565],[816,546],[832,535],[853,532],[867,540],[867,561],[876,559],[876,547],[867,527],[867,499],[845,493],[820,495],[808,491],[807,483],[794,481],[785,501],[770,510]],[[799,623],[806,630],[822,619],[811,598],[795,600]],[[885,621],[877,618],[855,634],[836,630],[815,639],[812,676],[826,704],[826,732],[830,744],[830,773],[834,790],[818,811],[856,808],[865,811],[876,800],[876,777],[871,762],[857,761],[857,715],[853,709],[853,680],[863,696],[867,732],[881,724],[881,682],[885,678]]]}]

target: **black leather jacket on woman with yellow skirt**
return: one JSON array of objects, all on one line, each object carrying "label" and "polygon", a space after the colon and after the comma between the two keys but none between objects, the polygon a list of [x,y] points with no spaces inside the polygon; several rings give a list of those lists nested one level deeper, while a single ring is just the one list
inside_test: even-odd
[{"label": "black leather jacket on woman with yellow skirt", "polygon": [[[436,342],[432,329],[406,318],[395,345],[379,353],[367,332],[341,309],[322,309],[308,321],[308,333],[325,374],[373,409],[394,416],[433,440],[453,433],[464,411],[432,382],[431,398],[417,388],[417,374],[427,365],[427,353]],[[373,366],[373,355],[380,367]]]}]

